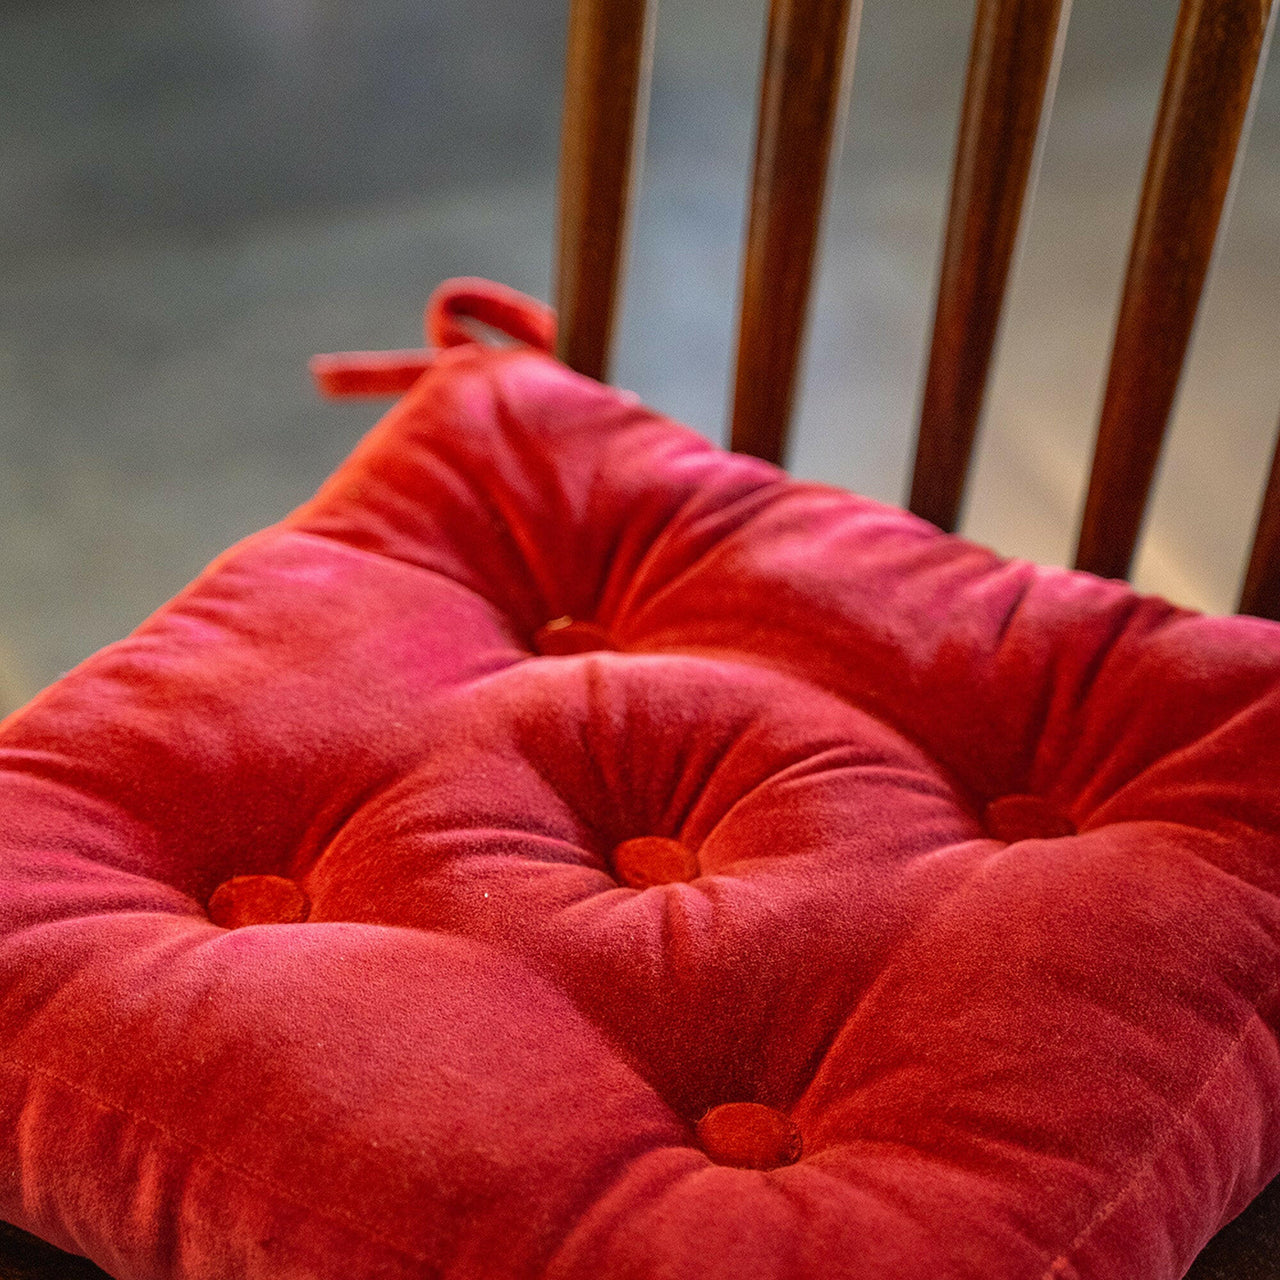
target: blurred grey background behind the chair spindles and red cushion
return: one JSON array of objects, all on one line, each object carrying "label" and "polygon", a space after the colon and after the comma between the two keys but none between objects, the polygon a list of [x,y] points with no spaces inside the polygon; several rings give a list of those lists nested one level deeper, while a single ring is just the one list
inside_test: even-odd
[{"label": "blurred grey background behind the chair spindles and red cushion", "polygon": [[[1076,0],[965,531],[1064,562],[1175,0]],[[305,499],[451,274],[548,296],[564,0],[0,6],[0,710]],[[764,0],[664,0],[617,380],[719,438]],[[972,8],[868,0],[792,470],[900,500]],[[1266,74],[1138,582],[1230,609],[1280,413]]]}]

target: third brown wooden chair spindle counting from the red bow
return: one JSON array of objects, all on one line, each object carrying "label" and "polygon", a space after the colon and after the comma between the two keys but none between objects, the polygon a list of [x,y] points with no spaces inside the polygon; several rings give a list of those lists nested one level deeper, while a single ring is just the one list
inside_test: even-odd
[{"label": "third brown wooden chair spindle counting from the red bow", "polygon": [[948,532],[1052,100],[1064,8],[1062,0],[978,0],[909,499]]}]

